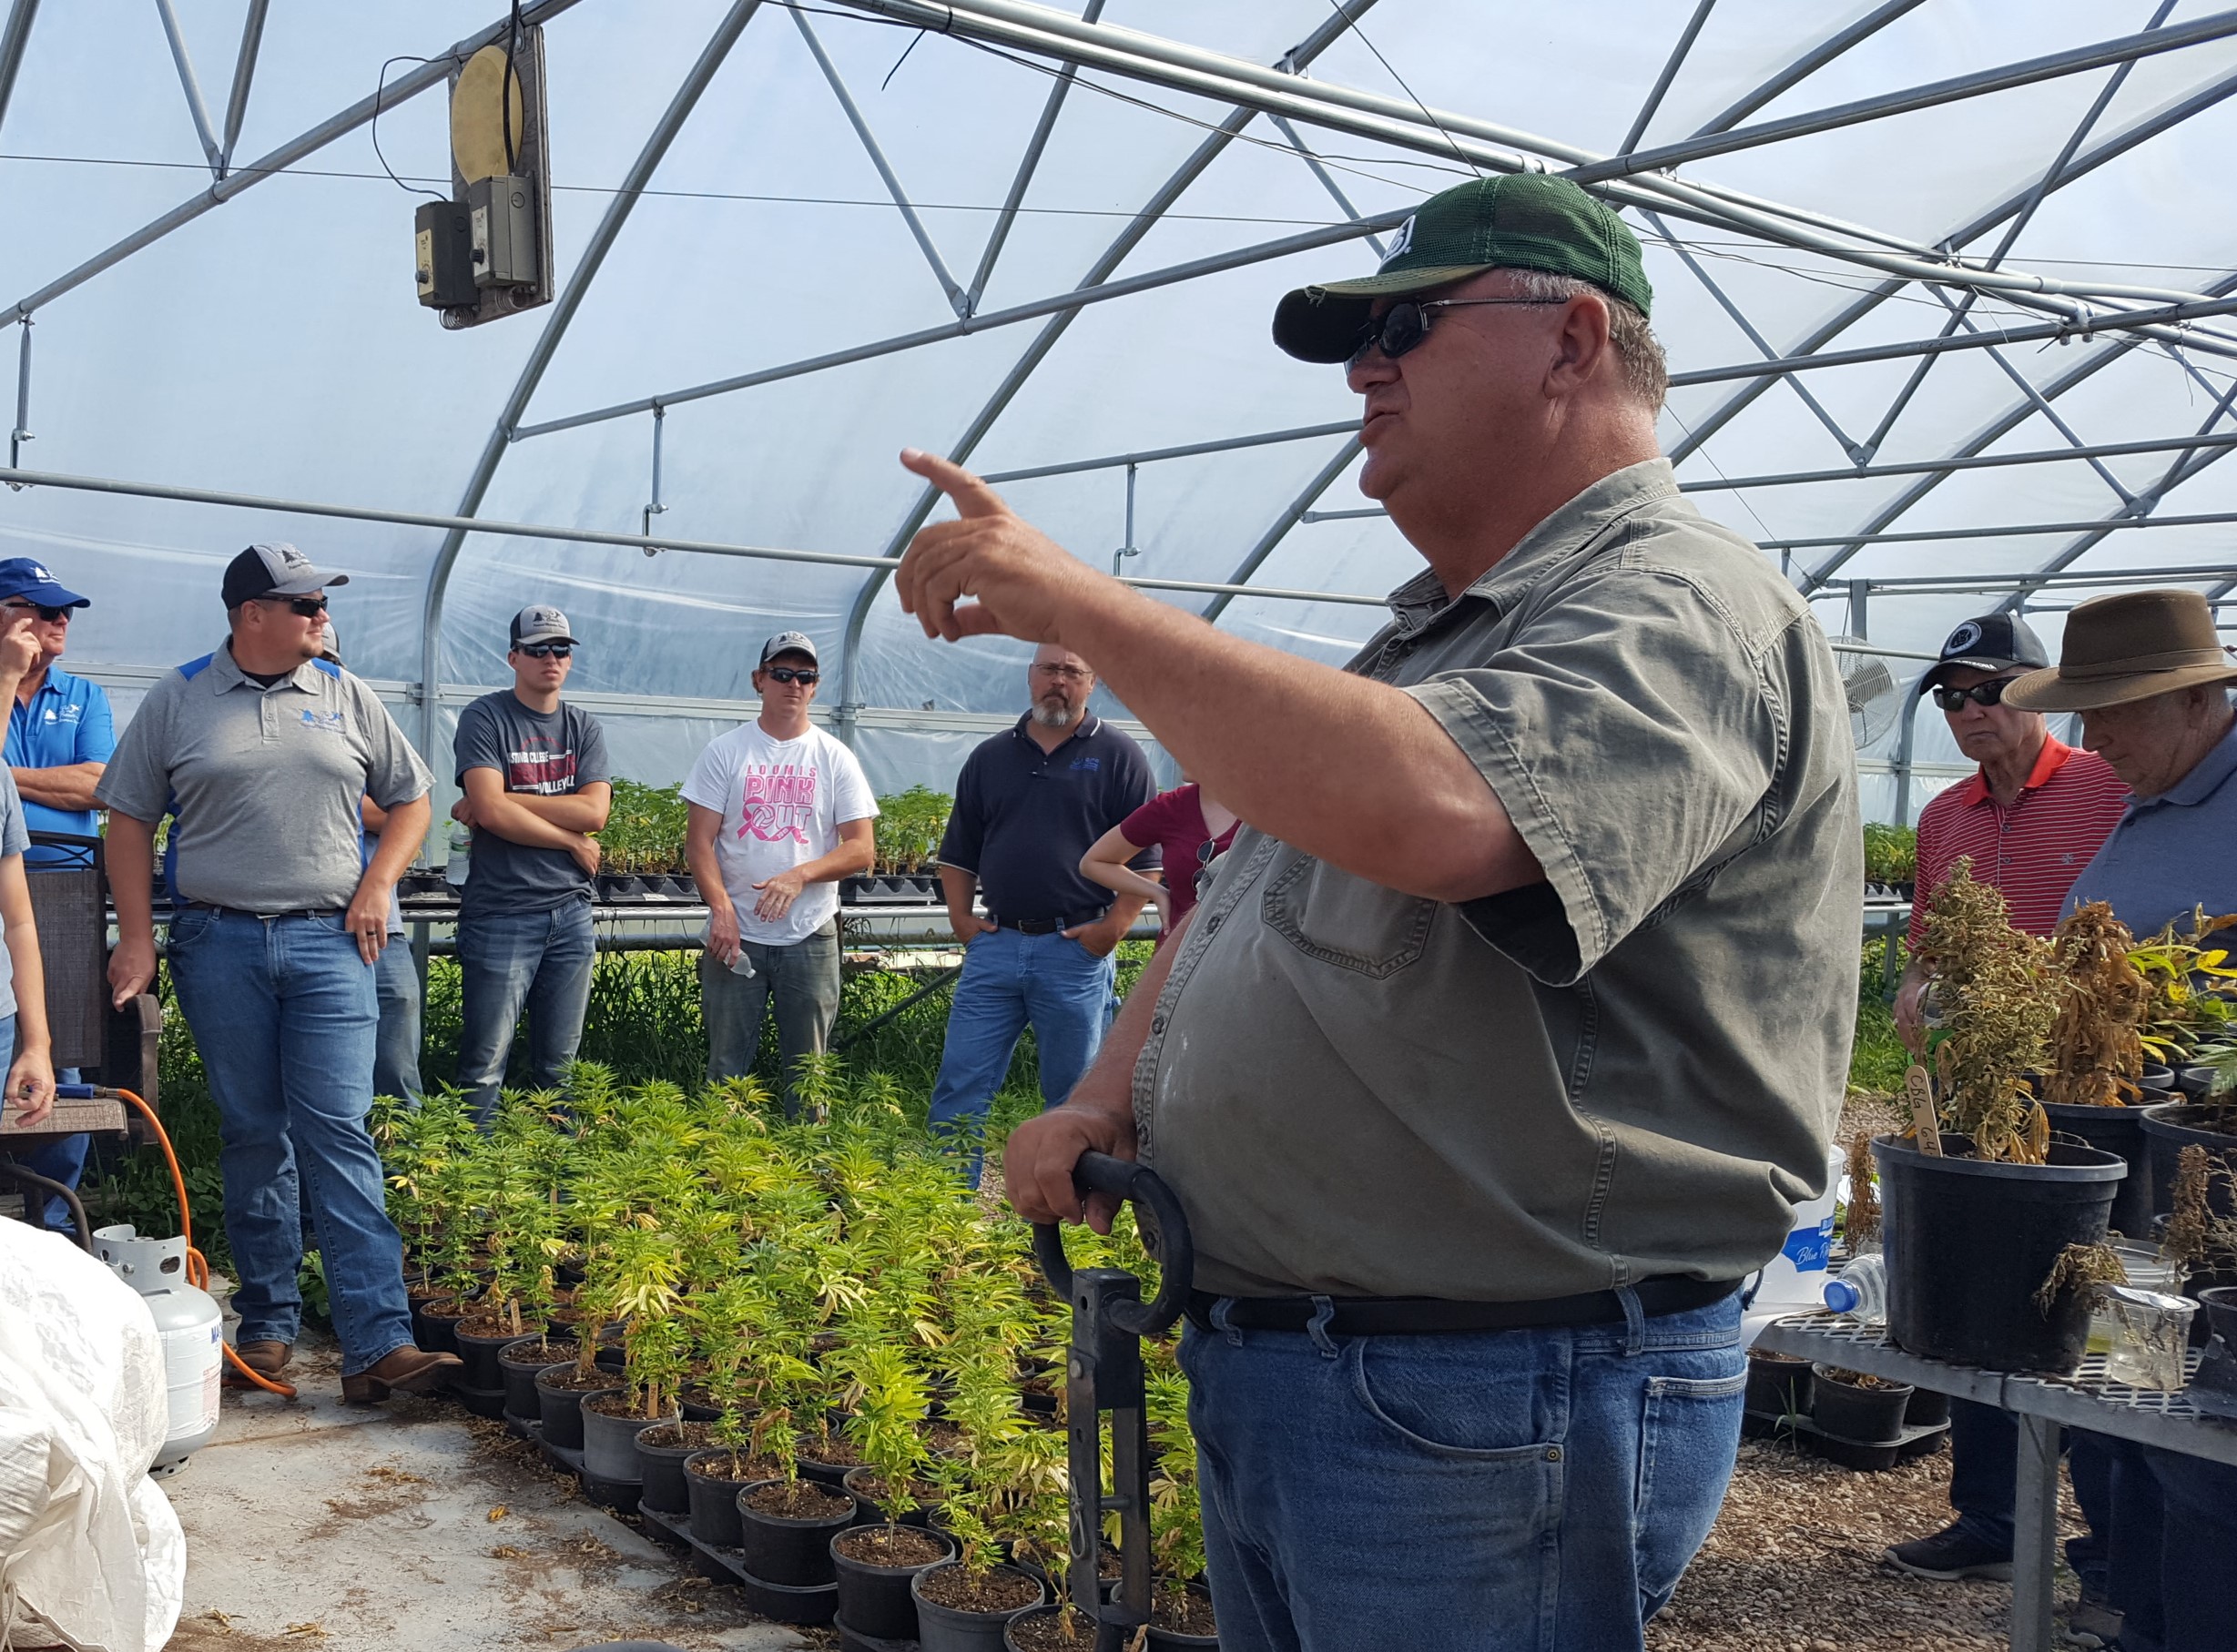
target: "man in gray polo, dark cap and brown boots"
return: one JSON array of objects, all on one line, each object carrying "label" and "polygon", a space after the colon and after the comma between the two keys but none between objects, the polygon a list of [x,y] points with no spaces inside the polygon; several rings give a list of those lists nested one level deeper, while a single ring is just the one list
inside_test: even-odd
[{"label": "man in gray polo, dark cap and brown boots", "polygon": [[[293,545],[226,568],[233,635],[148,691],[96,796],[110,811],[128,1004],[154,979],[148,867],[170,816],[170,977],[217,1102],[242,1361],[277,1375],[302,1323],[309,1191],[342,1341],[342,1399],[425,1393],[456,1355],[412,1346],[374,1107],[374,966],[396,879],[427,838],[427,767],[358,677],[320,662],[327,575]],[[358,805],[387,809],[371,861]]]}]

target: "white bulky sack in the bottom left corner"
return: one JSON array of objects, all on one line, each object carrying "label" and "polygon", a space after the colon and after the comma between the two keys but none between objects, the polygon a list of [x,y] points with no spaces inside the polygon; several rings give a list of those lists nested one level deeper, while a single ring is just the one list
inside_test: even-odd
[{"label": "white bulky sack in the bottom left corner", "polygon": [[170,1639],[186,1534],[148,1478],[166,1422],[148,1303],[67,1238],[0,1221],[0,1650]]}]

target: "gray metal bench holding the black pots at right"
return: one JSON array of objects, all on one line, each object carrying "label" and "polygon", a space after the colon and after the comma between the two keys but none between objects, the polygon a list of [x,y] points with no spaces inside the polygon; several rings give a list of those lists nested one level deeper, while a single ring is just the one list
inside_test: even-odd
[{"label": "gray metal bench holding the black pots at right", "polygon": [[[2051,1652],[2051,1578],[2058,1569],[2058,1431],[2094,1428],[2165,1451],[2237,1466],[2237,1422],[2199,1411],[2183,1390],[2130,1388],[2105,1377],[2105,1355],[2085,1355],[2071,1377],[2033,1370],[1982,1370],[1904,1352],[1886,1328],[1841,1314],[1787,1314],[1756,1337],[1756,1348],[1823,1359],[1846,1370],[1917,1384],[1953,1399],[2009,1411],[2020,1426],[2020,1471],[2013,1489],[2011,1645]],[[2199,1368],[2197,1350],[2183,1375]]]}]

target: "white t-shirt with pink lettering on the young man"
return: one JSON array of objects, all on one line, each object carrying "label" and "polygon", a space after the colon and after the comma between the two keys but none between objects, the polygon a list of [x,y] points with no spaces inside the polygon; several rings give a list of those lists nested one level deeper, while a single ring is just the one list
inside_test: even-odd
[{"label": "white t-shirt with pink lettering on the young man", "polygon": [[792,946],[839,912],[837,883],[810,883],[774,923],[754,917],[754,885],[839,847],[839,825],[877,816],[877,798],[855,753],[821,729],[774,740],[758,722],[718,735],[691,765],[685,803],[723,816],[716,865],[738,908],[738,934],[756,946]]}]

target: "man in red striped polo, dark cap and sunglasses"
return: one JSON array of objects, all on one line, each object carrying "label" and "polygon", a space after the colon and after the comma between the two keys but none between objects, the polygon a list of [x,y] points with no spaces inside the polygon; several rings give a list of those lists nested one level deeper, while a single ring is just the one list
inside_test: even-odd
[{"label": "man in red striped polo, dark cap and sunglasses", "polygon": [[[1904,1044],[1924,1051],[1919,999],[1926,970],[1915,961],[1926,930],[1926,901],[1962,856],[1973,879],[2004,894],[2011,921],[2031,934],[2058,923],[2067,890],[2112,836],[2127,807],[2127,787],[2112,765],[2051,738],[2042,718],[2004,702],[2004,684],[2049,664],[2042,639],[2009,613],[1966,619],[1942,644],[1942,659],[1919,680],[1948,720],[1957,749],[1980,771],[1919,811],[1919,870],[1910,903],[1910,968],[1895,995]],[[1995,1406],[1951,1402],[1951,1509],[1957,1518],[1928,1538],[1888,1549],[1888,1560],[1922,1578],[2009,1578],[2018,1431]],[[2076,1496],[2092,1531],[2103,1531],[2109,1496],[2098,1460],[2074,1460]],[[2067,1558],[2083,1578],[2083,1598],[2103,1598],[2105,1556],[2096,1538],[2076,1538]],[[2080,1621],[2080,1618],[2076,1618]]]}]

